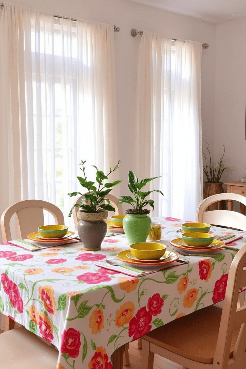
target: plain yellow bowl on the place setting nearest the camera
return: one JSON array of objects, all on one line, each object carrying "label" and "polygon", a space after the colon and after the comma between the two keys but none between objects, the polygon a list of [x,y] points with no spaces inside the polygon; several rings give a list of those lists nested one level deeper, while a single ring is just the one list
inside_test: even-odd
[{"label": "plain yellow bowl on the place setting nearest the camera", "polygon": [[130,250],[135,258],[140,260],[160,259],[166,251],[167,246],[156,242],[140,242],[130,246]]}]

